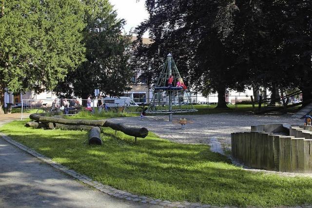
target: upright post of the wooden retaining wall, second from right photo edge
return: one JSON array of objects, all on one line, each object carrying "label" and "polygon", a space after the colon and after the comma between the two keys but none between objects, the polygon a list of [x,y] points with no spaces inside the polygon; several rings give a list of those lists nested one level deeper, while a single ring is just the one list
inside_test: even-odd
[{"label": "upright post of the wooden retaining wall, second from right photo edge", "polygon": [[292,172],[304,172],[304,138],[292,138]]}]

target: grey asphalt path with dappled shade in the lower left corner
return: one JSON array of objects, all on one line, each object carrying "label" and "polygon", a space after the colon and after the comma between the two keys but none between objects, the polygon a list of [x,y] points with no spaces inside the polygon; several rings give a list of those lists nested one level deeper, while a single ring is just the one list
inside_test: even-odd
[{"label": "grey asphalt path with dappled shade in the lower left corner", "polygon": [[[16,119],[0,115],[0,126]],[[156,207],[103,194],[0,139],[0,207]]]}]

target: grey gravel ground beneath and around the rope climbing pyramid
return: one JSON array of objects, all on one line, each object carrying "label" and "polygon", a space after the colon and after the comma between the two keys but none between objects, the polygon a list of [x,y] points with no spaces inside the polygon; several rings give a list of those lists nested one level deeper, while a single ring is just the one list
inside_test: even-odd
[{"label": "grey gravel ground beneath and around the rope climbing pyramid", "polygon": [[[182,130],[178,120],[186,118],[190,123]],[[217,113],[205,115],[173,115],[169,122],[168,115],[139,117],[121,117],[111,120],[130,126],[145,127],[161,138],[179,143],[208,144],[212,151],[224,153],[224,148],[231,147],[231,132],[250,131],[252,125],[272,123],[300,123],[303,120],[291,117],[291,114],[237,114]],[[221,148],[221,146],[223,148]]]}]

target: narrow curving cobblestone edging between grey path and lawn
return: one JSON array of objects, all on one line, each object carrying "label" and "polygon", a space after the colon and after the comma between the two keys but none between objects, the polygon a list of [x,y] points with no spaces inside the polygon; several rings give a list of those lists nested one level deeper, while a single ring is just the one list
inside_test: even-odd
[{"label": "narrow curving cobblestone edging between grey path and lawn", "polygon": [[79,172],[76,172],[75,170],[71,170],[66,168],[65,166],[52,161],[51,158],[46,157],[40,153],[38,153],[37,151],[34,151],[31,148],[26,147],[25,145],[20,144],[17,141],[12,140],[10,137],[6,136],[3,133],[0,133],[0,136],[7,142],[9,142],[10,144],[20,148],[23,151],[28,152],[29,154],[37,157],[38,159],[46,162],[47,164],[51,165],[52,167],[78,179],[79,181],[81,181],[84,184],[88,184],[89,186],[94,187],[95,189],[98,189],[99,191],[106,193],[108,195],[112,195],[115,196],[117,198],[124,198],[126,200],[131,200],[134,202],[141,202],[141,203],[146,203],[146,204],[151,204],[151,205],[161,205],[161,206],[165,206],[165,207],[177,207],[177,208],[216,208],[214,206],[210,206],[210,205],[202,205],[199,203],[189,203],[189,202],[171,202],[171,201],[163,201],[160,199],[152,199],[146,196],[138,196],[123,190],[118,190],[115,189],[113,187],[104,185],[99,183],[98,181],[94,181],[91,178],[87,177],[86,175],[83,175]]}]

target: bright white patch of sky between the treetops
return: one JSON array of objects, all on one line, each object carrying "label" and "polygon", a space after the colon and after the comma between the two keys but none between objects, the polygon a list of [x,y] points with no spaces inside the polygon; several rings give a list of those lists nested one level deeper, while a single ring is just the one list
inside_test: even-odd
[{"label": "bright white patch of sky between the treetops", "polygon": [[[118,18],[125,19],[125,31],[128,33],[130,30],[140,24],[144,19],[148,18],[148,13],[144,7],[145,0],[109,0],[117,10]],[[148,38],[148,33],[145,33],[144,38]]]}]

